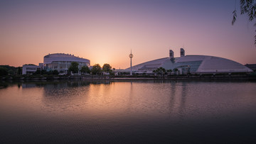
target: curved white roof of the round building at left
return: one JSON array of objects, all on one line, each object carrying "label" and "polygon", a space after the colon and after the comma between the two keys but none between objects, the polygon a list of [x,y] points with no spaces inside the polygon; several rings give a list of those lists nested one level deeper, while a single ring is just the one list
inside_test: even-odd
[{"label": "curved white roof of the round building at left", "polygon": [[53,53],[43,57],[44,64],[50,64],[52,62],[60,62],[60,61],[85,62],[90,64],[90,60],[87,60],[81,57],[75,57],[74,55],[68,55],[64,53]]}]

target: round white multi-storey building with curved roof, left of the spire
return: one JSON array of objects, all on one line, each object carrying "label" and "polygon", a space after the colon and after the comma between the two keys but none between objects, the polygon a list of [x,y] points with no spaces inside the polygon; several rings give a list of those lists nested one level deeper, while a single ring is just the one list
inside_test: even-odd
[{"label": "round white multi-storey building with curved roof, left of the spire", "polygon": [[67,74],[71,62],[78,62],[79,69],[82,66],[90,67],[90,60],[75,57],[71,54],[54,53],[43,57],[43,66],[45,67],[45,70],[58,70],[58,72],[65,74]]}]

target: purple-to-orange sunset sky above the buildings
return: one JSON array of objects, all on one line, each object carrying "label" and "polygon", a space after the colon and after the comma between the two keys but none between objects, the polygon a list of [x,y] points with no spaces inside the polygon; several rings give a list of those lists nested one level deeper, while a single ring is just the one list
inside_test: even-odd
[{"label": "purple-to-orange sunset sky above the buildings", "polygon": [[[43,62],[48,53],[116,69],[149,60],[213,55],[256,63],[255,21],[235,0],[0,0],[0,65]],[[231,25],[234,9],[238,10]]]}]

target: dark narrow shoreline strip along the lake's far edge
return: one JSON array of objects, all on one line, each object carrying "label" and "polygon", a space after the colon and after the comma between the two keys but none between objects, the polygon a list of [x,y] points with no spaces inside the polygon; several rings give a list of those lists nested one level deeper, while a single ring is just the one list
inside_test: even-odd
[{"label": "dark narrow shoreline strip along the lake's far edge", "polygon": [[189,80],[189,81],[256,81],[256,75],[246,76],[213,76],[213,75],[174,75],[171,77],[88,77],[88,76],[65,76],[65,77],[14,77],[0,79],[0,81],[23,81],[23,82],[46,82],[55,80],[82,80],[82,81],[150,81],[150,80]]}]

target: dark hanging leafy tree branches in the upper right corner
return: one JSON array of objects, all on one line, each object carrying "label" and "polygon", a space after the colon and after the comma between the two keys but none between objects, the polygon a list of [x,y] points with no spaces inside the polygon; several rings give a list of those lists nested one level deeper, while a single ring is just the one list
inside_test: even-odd
[{"label": "dark hanging leafy tree branches in the upper right corner", "polygon": [[[252,21],[256,18],[256,1],[255,0],[240,0],[240,13],[247,14],[249,21]],[[234,25],[237,19],[236,8],[233,11],[233,20],[232,25]],[[256,23],[255,23],[256,26]],[[255,35],[255,45],[256,45],[256,35]]]}]

